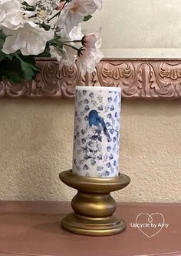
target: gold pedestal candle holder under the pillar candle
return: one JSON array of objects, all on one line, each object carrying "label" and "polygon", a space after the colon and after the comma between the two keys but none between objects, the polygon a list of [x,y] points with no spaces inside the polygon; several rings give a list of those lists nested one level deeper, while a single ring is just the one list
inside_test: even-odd
[{"label": "gold pedestal candle holder under the pillar candle", "polygon": [[118,234],[126,228],[122,218],[114,215],[117,204],[110,192],[120,190],[130,183],[130,177],[119,173],[113,178],[81,177],[71,170],[59,175],[69,187],[77,190],[71,201],[74,213],[61,221],[62,227],[75,234],[107,236]]}]

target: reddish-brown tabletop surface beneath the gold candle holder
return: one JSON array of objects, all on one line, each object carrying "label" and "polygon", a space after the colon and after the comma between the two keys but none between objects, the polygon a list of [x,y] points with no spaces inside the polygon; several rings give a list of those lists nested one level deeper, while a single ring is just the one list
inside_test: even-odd
[{"label": "reddish-brown tabletop surface beneath the gold candle holder", "polygon": [[109,237],[62,230],[70,211],[70,203],[0,201],[0,256],[181,255],[181,204],[118,204],[127,229]]}]

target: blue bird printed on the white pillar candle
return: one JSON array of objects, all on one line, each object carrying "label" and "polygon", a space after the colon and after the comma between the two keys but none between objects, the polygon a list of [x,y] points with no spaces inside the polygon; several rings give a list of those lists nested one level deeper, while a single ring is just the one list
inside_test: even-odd
[{"label": "blue bird printed on the white pillar candle", "polygon": [[97,110],[91,110],[88,116],[89,125],[97,132],[101,133],[102,131],[107,136],[107,140],[110,140],[110,134],[107,130],[107,126],[104,122],[104,119],[98,115]]}]

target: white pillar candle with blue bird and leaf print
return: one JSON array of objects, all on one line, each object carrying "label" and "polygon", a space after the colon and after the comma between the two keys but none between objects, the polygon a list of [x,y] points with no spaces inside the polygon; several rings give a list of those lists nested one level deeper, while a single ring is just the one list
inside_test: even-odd
[{"label": "white pillar candle with blue bird and leaf print", "polygon": [[76,87],[73,173],[118,176],[120,103],[119,87]]}]

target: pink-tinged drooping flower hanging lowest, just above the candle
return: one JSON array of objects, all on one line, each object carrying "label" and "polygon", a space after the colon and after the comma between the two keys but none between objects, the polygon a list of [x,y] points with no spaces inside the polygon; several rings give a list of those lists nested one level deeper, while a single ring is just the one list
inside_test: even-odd
[{"label": "pink-tinged drooping flower hanging lowest, just above the candle", "polygon": [[81,74],[85,75],[86,72],[93,72],[96,64],[103,58],[103,54],[100,52],[100,31],[85,35],[82,43],[83,50],[77,56],[77,66],[79,66]]}]

